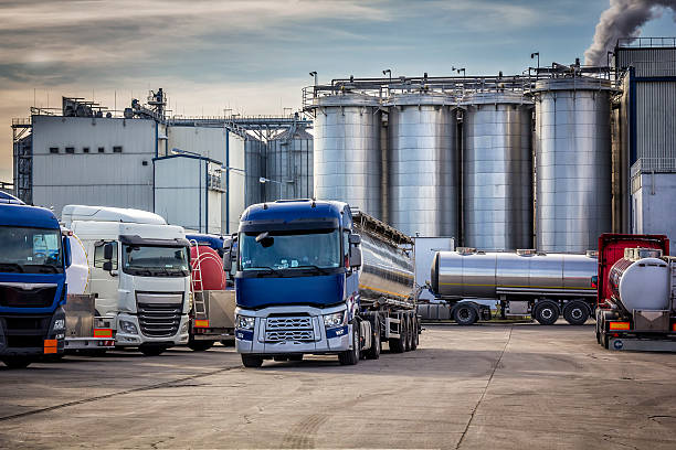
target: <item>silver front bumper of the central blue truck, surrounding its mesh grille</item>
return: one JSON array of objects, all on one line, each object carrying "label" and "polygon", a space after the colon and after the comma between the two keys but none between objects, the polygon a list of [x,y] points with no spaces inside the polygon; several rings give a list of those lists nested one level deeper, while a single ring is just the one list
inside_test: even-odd
[{"label": "silver front bumper of the central blue truck, surrounding its mesh grille", "polygon": [[[273,307],[263,310],[251,311],[239,309],[235,314],[255,318],[253,330],[235,329],[235,349],[239,353],[279,355],[279,354],[335,354],[345,352],[351,345],[351,325],[342,325],[326,330],[324,326],[324,314],[345,310],[344,306],[327,309],[311,307]],[[311,321],[311,339],[285,340],[281,342],[268,342],[266,335],[267,320],[271,315],[283,317],[309,317]],[[288,331],[293,331],[289,329]]]}]

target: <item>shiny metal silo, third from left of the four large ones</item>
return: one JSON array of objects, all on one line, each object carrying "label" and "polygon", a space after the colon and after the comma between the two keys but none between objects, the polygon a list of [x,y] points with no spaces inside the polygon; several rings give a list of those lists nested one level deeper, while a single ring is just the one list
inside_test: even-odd
[{"label": "shiny metal silo, third from left of the four large ones", "polygon": [[463,236],[467,247],[532,247],[532,103],[515,93],[463,101]]}]

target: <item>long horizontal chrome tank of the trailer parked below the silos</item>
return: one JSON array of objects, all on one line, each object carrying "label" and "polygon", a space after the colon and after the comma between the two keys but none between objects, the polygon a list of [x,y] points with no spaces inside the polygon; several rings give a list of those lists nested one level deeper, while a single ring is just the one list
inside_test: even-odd
[{"label": "long horizontal chrome tank of the trailer parked below the silos", "polygon": [[564,294],[594,297],[595,253],[542,254],[534,250],[485,253],[437,251],[431,270],[432,291],[442,297],[498,299],[500,296]]}]

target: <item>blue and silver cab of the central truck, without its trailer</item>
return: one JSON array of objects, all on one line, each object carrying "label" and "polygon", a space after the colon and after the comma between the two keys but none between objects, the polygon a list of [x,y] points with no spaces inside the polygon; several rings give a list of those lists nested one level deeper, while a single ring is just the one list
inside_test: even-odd
[{"label": "blue and silver cab of the central truck, without its trailer", "polygon": [[351,352],[361,265],[352,225],[340,202],[277,201],[242,214],[233,264],[235,346],[245,366]]}]

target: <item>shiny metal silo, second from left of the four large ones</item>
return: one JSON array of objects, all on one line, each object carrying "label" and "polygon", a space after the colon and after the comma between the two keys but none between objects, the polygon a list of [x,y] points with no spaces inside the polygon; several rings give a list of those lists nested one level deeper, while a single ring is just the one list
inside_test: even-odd
[{"label": "shiny metal silo, second from left of the four large ones", "polygon": [[390,97],[388,221],[408,235],[457,236],[460,152],[454,99]]}]

